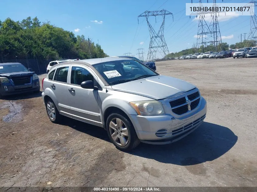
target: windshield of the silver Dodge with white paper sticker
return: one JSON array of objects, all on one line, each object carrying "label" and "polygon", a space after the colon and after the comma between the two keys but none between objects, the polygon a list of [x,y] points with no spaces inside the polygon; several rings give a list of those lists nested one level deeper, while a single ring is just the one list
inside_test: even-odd
[{"label": "windshield of the silver Dodge with white paper sticker", "polygon": [[134,60],[118,60],[93,65],[109,85],[116,85],[158,74]]}]

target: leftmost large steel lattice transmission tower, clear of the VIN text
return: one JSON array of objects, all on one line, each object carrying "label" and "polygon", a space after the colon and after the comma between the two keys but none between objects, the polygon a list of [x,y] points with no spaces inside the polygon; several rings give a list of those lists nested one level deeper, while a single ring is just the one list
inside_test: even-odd
[{"label": "leftmost large steel lattice transmission tower, clear of the VIN text", "polygon": [[[164,22],[165,22],[165,16],[166,15],[172,15],[173,14],[165,9],[162,9],[161,11],[145,11],[141,15],[137,17],[137,20],[139,17],[145,17],[148,25],[148,29],[150,32],[150,44],[149,44],[149,50],[147,55],[147,61],[154,60],[156,58],[156,52],[158,51],[163,58],[166,57],[166,55],[169,54],[167,44],[165,42],[163,33],[164,33]],[[155,16],[155,22],[156,22],[156,16],[162,16],[163,21],[161,23],[161,26],[156,32],[150,22],[148,21],[148,17]]]}]

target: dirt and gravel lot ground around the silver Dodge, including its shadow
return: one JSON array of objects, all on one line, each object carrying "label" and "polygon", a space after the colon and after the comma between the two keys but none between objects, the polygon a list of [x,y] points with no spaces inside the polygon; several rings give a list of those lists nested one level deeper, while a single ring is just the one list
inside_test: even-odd
[{"label": "dirt and gravel lot ground around the silver Dodge, including its shadow", "polygon": [[69,118],[51,123],[41,93],[8,97],[0,100],[0,186],[257,186],[257,59],[156,66],[207,100],[196,131],[126,153],[102,128]]}]

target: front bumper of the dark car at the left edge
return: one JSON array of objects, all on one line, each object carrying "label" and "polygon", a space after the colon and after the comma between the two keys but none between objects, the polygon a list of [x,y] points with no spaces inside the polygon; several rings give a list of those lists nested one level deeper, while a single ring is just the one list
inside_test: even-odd
[{"label": "front bumper of the dark car at the left edge", "polygon": [[0,93],[2,96],[15,95],[39,90],[39,79],[33,80],[31,84],[15,86],[15,88],[11,83],[0,84]]}]

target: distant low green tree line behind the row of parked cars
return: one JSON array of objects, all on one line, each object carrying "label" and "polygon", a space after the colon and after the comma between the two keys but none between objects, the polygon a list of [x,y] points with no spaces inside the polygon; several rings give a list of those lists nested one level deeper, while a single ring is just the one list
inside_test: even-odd
[{"label": "distant low green tree line behind the row of parked cars", "polygon": [[[222,43],[219,44],[217,46],[217,49],[218,51],[225,51],[225,50],[228,50],[228,49],[240,49],[240,48],[244,48],[244,47],[253,47],[255,46],[255,43],[253,41],[250,41],[250,40],[244,40],[241,42],[237,42],[235,44],[231,44],[231,45],[228,45],[227,43]],[[222,48],[221,48],[222,47]],[[203,47],[203,52],[208,52],[208,51],[213,51],[214,52],[215,50],[215,47],[214,45],[210,44],[210,45],[207,45],[206,47]],[[188,55],[188,54],[194,54],[194,53],[201,53],[202,52],[202,46],[200,46],[200,48],[196,48],[195,45],[192,46],[192,48],[190,49],[184,49],[182,51],[179,51],[179,52],[175,52],[175,53],[169,53],[166,57],[179,57],[179,56],[182,56],[182,55]]]}]

